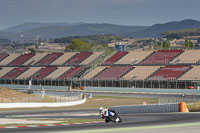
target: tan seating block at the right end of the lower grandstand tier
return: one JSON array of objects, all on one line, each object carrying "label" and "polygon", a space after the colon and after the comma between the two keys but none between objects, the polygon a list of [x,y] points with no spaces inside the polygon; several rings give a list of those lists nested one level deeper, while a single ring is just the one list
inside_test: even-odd
[{"label": "tan seating block at the right end of the lower grandstand tier", "polygon": [[193,66],[193,68],[181,76],[179,80],[200,80],[200,66]]}]

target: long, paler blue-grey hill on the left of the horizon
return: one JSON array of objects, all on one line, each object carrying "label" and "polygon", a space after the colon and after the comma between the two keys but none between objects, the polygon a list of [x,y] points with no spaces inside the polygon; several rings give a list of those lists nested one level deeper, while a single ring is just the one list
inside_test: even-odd
[{"label": "long, paler blue-grey hill on the left of the horizon", "polygon": [[37,36],[40,36],[42,39],[54,39],[67,36],[87,36],[96,34],[124,35],[147,28],[146,26],[123,26],[106,23],[76,23],[72,25],[63,25],[59,24],[58,26],[58,24],[51,24],[44,26],[44,24],[41,23],[25,23],[2,31],[0,33],[0,38],[20,40],[20,35],[24,35],[23,39],[33,40]]}]

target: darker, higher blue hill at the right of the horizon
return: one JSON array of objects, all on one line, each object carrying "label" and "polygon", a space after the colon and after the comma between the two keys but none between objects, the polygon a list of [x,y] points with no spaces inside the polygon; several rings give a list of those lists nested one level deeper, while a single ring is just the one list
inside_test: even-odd
[{"label": "darker, higher blue hill at the right of the horizon", "polygon": [[185,19],[164,24],[155,24],[144,30],[127,34],[129,37],[160,37],[162,32],[176,31],[183,29],[200,28],[200,21]]}]

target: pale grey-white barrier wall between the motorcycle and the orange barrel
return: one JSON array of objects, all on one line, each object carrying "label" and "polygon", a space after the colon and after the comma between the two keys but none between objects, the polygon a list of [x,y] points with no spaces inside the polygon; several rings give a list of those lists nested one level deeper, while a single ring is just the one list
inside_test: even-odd
[{"label": "pale grey-white barrier wall between the motorcycle and the orange barrel", "polygon": [[118,114],[178,112],[178,103],[110,107]]}]

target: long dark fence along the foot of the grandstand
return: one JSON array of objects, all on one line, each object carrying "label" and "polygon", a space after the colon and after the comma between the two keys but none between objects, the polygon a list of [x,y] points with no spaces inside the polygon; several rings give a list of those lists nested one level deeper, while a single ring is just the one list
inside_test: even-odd
[{"label": "long dark fence along the foot of the grandstand", "polygon": [[[187,89],[188,86],[199,86],[199,81],[193,80],[32,80],[32,85],[43,86],[94,86],[94,87],[131,87],[131,88],[171,88]],[[0,79],[0,84],[28,85],[29,80]]]}]

